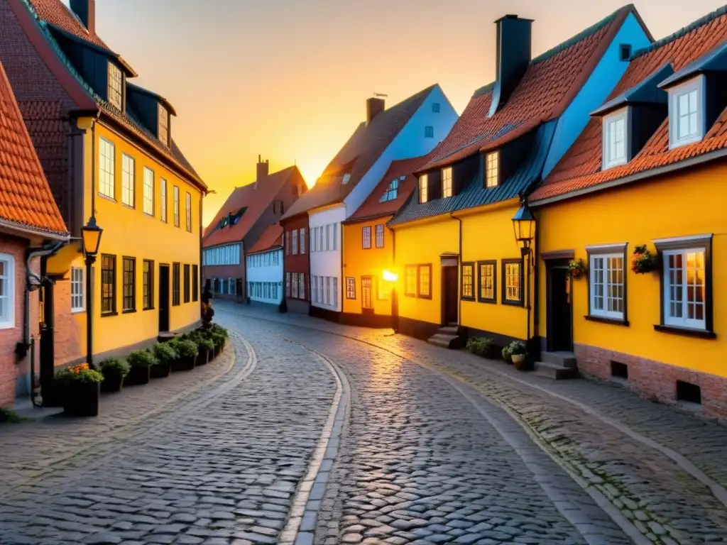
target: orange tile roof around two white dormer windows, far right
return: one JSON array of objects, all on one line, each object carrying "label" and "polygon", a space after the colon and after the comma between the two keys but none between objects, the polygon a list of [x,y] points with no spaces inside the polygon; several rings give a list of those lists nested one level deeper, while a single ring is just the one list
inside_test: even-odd
[{"label": "orange tile roof around two white dormer windows, far right", "polygon": [[[626,73],[608,100],[639,84],[667,62],[672,63],[675,71],[680,70],[722,44],[725,39],[727,39],[727,9],[722,8],[679,33],[635,52]],[[605,171],[601,171],[601,132],[601,119],[591,119],[542,186],[531,195],[531,201],[588,190],[604,182],[727,148],[727,110],[720,114],[704,140],[673,150],[669,149],[669,124],[668,120],[664,119],[659,129],[631,161]]]}]

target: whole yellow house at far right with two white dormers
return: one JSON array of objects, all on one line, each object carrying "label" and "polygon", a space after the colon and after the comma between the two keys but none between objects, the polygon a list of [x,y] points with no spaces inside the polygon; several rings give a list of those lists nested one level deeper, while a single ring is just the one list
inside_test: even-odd
[{"label": "whole yellow house at far right with two white dormers", "polygon": [[720,419],[727,98],[715,80],[726,76],[726,37],[722,10],[635,52],[530,198],[543,344],[573,351],[584,374],[666,403],[701,403]]}]

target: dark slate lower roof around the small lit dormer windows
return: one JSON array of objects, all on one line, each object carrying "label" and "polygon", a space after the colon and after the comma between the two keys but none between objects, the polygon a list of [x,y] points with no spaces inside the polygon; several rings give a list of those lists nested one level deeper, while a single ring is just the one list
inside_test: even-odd
[{"label": "dark slate lower roof around the small lit dormer windows", "polygon": [[557,120],[548,121],[537,129],[530,156],[502,185],[484,187],[482,171],[478,169],[478,174],[470,180],[465,189],[453,197],[437,198],[427,203],[419,203],[419,187],[417,187],[409,201],[402,206],[393,219],[388,222],[388,225],[400,225],[417,219],[507,201],[525,193],[529,187],[540,180],[557,123]]}]

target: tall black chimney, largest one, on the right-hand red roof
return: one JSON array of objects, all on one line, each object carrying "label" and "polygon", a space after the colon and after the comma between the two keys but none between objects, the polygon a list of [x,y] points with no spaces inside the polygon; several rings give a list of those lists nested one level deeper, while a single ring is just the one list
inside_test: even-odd
[{"label": "tall black chimney, largest one, on the right-hand red roof", "polygon": [[494,116],[510,98],[525,75],[532,55],[531,19],[505,15],[497,25],[497,68],[489,116]]}]

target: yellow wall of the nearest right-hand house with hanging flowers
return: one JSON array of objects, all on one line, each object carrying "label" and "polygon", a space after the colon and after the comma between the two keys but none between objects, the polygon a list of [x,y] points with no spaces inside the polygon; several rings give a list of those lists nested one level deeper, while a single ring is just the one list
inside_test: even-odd
[{"label": "yellow wall of the nearest right-hand house with hanging flowers", "polygon": [[[586,320],[588,278],[572,281],[573,339],[599,347],[668,363],[694,371],[727,376],[723,364],[727,346],[727,165],[690,169],[633,185],[572,198],[536,209],[539,251],[573,250],[587,262],[586,246],[627,243],[626,310],[628,326]],[[654,240],[712,234],[712,307],[716,339],[694,338],[656,331],[661,324],[660,273],[630,270],[635,246]],[[707,273],[709,274],[709,273]],[[547,275],[539,260],[539,335],[547,336]],[[614,355],[614,359],[617,356]],[[580,365],[580,361],[579,361]]]}]

